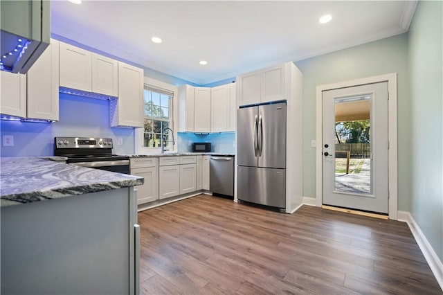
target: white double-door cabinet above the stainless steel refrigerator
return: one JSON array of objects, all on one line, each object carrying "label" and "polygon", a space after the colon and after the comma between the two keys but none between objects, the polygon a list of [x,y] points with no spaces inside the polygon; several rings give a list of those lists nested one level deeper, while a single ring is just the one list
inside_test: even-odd
[{"label": "white double-door cabinet above the stainless steel refrigerator", "polygon": [[237,77],[238,105],[287,99],[287,71],[292,62],[278,64]]}]

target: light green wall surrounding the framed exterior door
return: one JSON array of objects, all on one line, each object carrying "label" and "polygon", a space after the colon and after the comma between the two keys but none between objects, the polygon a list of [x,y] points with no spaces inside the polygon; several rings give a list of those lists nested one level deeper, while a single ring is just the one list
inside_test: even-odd
[{"label": "light green wall surrounding the framed exterior door", "polygon": [[405,34],[312,57],[295,63],[303,73],[303,195],[316,197],[316,87],[374,75],[397,73],[398,208],[410,211],[410,97],[408,37]]}]

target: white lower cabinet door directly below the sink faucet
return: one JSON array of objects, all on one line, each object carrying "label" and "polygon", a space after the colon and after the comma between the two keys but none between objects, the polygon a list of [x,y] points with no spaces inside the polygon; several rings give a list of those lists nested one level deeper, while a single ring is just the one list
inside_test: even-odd
[{"label": "white lower cabinet door directly below the sink faucet", "polygon": [[180,165],[160,166],[159,199],[180,195]]}]

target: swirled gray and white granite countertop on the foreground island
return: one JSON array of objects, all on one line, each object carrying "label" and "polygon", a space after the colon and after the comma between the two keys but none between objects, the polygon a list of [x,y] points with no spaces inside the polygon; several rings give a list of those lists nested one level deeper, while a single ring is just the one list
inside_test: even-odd
[{"label": "swirled gray and white granite countertop on the foreground island", "polygon": [[60,163],[60,157],[41,158],[0,158],[1,207],[139,186],[144,181],[143,177]]}]

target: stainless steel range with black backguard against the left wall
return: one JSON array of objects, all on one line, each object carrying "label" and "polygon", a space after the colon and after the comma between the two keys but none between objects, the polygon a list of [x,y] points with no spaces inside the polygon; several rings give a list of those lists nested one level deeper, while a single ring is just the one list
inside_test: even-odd
[{"label": "stainless steel range with black backguard against the left wall", "polygon": [[54,146],[66,163],[129,174],[129,157],[112,154],[112,138],[55,137]]}]

